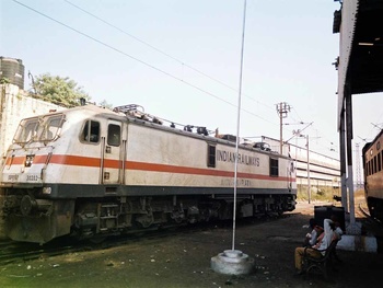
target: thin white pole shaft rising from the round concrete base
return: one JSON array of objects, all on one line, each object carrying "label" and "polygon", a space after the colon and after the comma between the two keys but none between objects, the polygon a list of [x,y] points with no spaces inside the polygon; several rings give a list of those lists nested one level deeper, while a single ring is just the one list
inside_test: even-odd
[{"label": "thin white pole shaft rising from the round concrete base", "polygon": [[246,0],[243,8],[243,23],[242,23],[242,45],[241,45],[241,68],[240,68],[240,88],[239,88],[239,103],[236,113],[236,141],[235,141],[235,164],[234,164],[234,208],[233,208],[233,240],[232,250],[235,247],[235,220],[236,220],[236,178],[239,165],[239,142],[240,142],[240,127],[241,127],[241,96],[242,96],[242,70],[243,70],[243,50],[245,44],[245,24],[246,24]]}]

